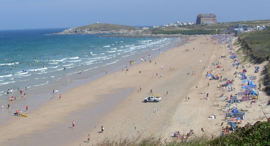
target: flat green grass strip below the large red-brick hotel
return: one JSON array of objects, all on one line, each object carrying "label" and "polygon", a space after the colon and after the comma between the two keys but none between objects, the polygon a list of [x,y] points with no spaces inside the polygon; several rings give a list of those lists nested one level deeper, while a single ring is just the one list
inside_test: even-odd
[{"label": "flat green grass strip below the large red-brick hotel", "polygon": [[216,34],[220,30],[215,29],[198,29],[198,30],[165,30],[165,31],[155,31],[153,34]]}]

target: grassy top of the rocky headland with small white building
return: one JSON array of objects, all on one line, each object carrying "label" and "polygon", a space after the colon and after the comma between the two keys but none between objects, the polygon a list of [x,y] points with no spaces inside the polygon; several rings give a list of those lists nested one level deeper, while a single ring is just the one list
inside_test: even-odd
[{"label": "grassy top of the rocky headland with small white building", "polygon": [[91,30],[104,30],[104,31],[111,31],[111,30],[137,30],[139,28],[127,25],[118,25],[118,24],[107,24],[107,23],[95,23],[91,25],[85,25],[81,27],[77,27],[76,29],[91,29]]}]

